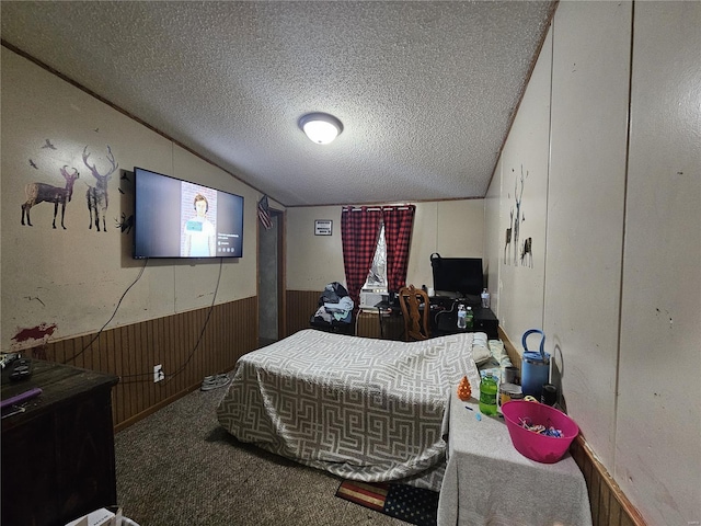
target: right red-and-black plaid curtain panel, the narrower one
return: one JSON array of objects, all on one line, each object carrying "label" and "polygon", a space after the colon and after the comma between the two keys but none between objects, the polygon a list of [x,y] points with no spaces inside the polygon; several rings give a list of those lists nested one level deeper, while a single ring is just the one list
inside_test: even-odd
[{"label": "right red-and-black plaid curtain panel, the narrower one", "polygon": [[414,205],[382,208],[387,243],[387,288],[399,290],[406,284],[409,248],[414,228]]}]

